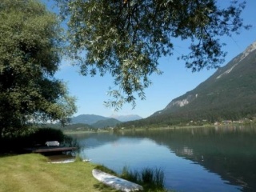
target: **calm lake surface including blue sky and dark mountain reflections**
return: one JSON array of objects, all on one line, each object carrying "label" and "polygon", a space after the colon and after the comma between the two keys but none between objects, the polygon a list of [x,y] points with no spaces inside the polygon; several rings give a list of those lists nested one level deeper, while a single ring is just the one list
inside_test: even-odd
[{"label": "calm lake surface including blue sky and dark mountain reflections", "polygon": [[74,135],[82,157],[121,173],[161,168],[167,189],[256,191],[256,128],[190,128]]}]

